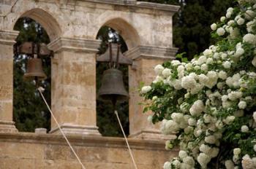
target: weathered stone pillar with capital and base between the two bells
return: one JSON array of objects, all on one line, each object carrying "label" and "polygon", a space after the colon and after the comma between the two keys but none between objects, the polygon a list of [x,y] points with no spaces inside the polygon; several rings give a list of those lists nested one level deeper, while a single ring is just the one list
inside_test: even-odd
[{"label": "weathered stone pillar with capital and base between the two bells", "polygon": [[[100,135],[96,114],[96,53],[100,42],[78,38],[54,40],[51,109],[64,133]],[[51,119],[50,133],[59,133]]]}]

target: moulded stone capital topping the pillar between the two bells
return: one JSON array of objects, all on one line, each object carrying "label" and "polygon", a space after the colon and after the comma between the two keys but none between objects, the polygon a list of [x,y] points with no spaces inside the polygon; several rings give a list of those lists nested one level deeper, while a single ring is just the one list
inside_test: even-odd
[{"label": "moulded stone capital topping the pillar between the two bells", "polygon": [[98,52],[99,40],[59,37],[48,44],[48,48],[54,52],[63,50]]}]

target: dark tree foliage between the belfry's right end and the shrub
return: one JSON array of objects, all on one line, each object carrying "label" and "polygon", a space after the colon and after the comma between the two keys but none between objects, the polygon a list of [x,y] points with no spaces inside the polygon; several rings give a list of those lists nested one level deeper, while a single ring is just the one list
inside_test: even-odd
[{"label": "dark tree foliage between the belfry's right end and the shrub", "polygon": [[212,23],[225,16],[233,0],[184,0],[181,10],[173,17],[173,43],[179,48],[178,53],[192,59],[198,52],[203,52],[211,44]]}]

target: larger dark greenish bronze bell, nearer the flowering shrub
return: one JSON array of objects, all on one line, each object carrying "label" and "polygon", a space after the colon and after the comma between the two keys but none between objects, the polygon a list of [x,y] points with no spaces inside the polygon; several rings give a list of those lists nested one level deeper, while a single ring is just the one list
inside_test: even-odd
[{"label": "larger dark greenish bronze bell, nearer the flowering shrub", "polygon": [[124,101],[129,98],[127,90],[124,88],[123,74],[121,71],[116,68],[109,68],[104,71],[98,96],[104,100],[112,101],[113,104],[116,101]]}]

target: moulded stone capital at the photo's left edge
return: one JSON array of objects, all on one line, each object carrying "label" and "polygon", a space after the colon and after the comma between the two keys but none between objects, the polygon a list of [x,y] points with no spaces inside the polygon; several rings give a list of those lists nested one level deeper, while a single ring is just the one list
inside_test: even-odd
[{"label": "moulded stone capital at the photo's left edge", "polygon": [[0,44],[15,44],[19,31],[4,31],[0,30]]}]

